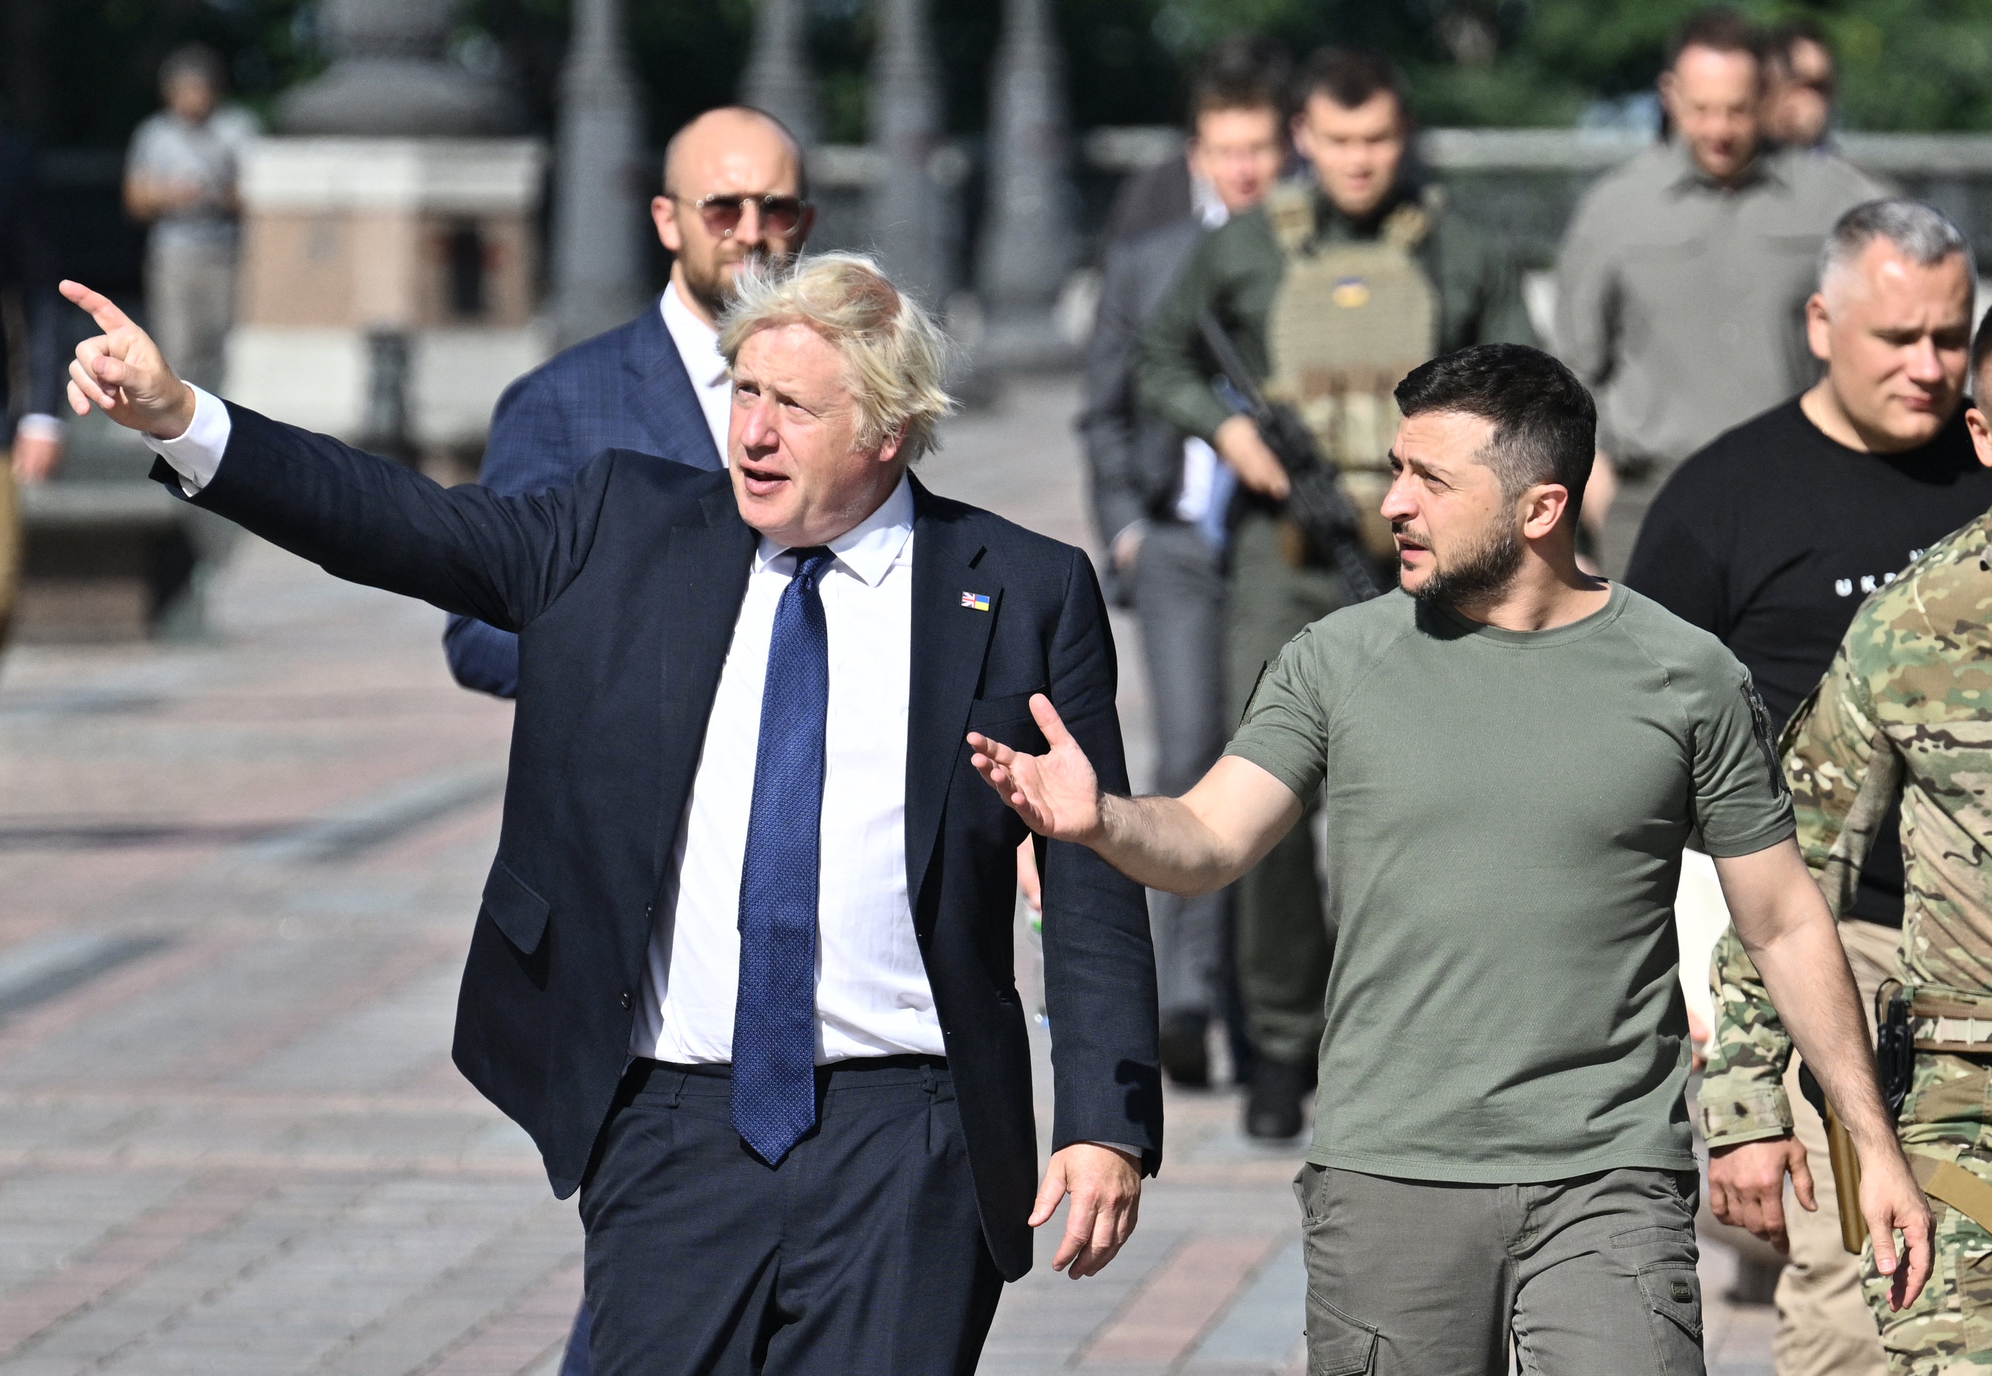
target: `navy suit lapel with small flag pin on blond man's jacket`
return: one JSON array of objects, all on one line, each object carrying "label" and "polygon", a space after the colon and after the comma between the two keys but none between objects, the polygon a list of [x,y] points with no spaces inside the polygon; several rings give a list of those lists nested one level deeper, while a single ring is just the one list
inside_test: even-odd
[{"label": "navy suit lapel with small flag pin on blond man's jacket", "polygon": [[[912,482],[912,681],[906,697],[906,898],[920,912],[920,884],[934,854],[948,781],[968,749],[968,705],[982,679],[1002,583],[976,568],[984,544],[936,510]],[[988,597],[988,609],[964,605]]]}]

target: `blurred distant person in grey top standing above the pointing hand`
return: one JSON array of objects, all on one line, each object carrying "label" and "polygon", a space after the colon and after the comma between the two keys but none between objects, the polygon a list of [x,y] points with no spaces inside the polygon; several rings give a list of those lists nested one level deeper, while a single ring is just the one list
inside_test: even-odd
[{"label": "blurred distant person in grey top standing above the pointing hand", "polygon": [[145,323],[159,346],[203,388],[221,386],[223,346],[235,323],[235,193],[249,112],[221,104],[221,58],[199,44],[159,66],[165,110],[131,135],[125,209],[151,225],[145,239]]}]

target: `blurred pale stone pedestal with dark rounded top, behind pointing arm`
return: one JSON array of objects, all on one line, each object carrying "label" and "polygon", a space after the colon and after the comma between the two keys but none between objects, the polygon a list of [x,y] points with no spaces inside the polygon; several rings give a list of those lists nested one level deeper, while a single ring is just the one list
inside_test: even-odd
[{"label": "blurred pale stone pedestal with dark rounded top, behind pointing arm", "polygon": [[[454,0],[327,0],[333,66],[243,157],[227,390],[396,450],[476,452],[534,325],[546,149],[444,60]],[[394,432],[388,432],[388,430]]]}]

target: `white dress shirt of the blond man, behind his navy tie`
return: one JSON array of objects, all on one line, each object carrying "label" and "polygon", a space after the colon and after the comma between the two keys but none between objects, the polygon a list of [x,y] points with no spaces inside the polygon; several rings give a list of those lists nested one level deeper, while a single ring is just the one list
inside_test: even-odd
[{"label": "white dress shirt of the blond man, behind his navy tie", "polygon": [[[942,1055],[940,1018],[906,898],[906,689],[912,675],[912,486],[829,544],[819,589],[831,639],[817,870],[817,1063]],[[733,1059],[741,864],[761,743],[775,603],[795,556],[763,540],[705,749],[679,822],[629,1049]]]}]

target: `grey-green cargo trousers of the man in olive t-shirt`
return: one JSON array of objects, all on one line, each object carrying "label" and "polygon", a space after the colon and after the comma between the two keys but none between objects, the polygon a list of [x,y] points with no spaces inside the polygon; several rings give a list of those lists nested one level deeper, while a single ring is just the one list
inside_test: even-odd
[{"label": "grey-green cargo trousers of the man in olive t-shirt", "polygon": [[1295,1179],[1309,1376],[1701,1376],[1691,1171]]}]

